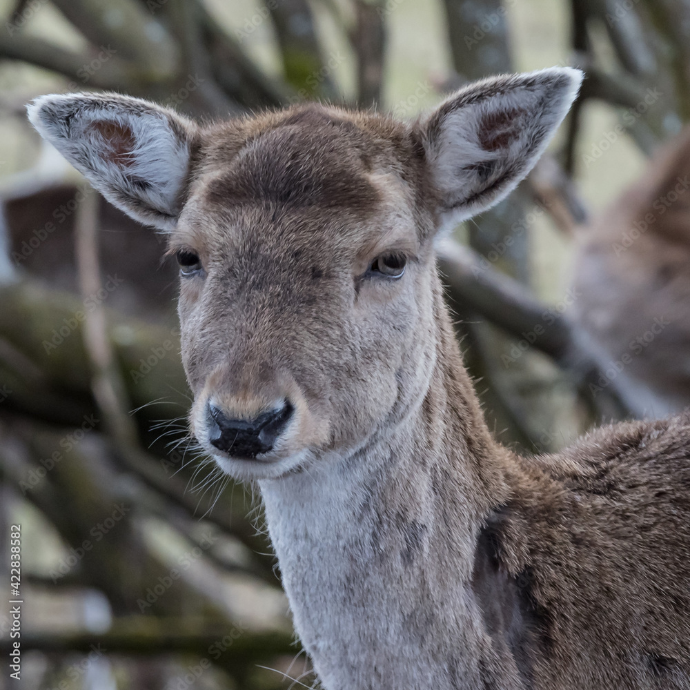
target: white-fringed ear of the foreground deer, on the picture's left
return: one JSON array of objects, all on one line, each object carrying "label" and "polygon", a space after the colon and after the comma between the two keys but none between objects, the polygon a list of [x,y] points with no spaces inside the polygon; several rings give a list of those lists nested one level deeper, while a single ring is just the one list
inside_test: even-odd
[{"label": "white-fringed ear of the foreground deer, on the picture's left", "polygon": [[39,134],[108,201],[142,223],[175,226],[195,124],[117,94],[41,96],[27,110]]}]

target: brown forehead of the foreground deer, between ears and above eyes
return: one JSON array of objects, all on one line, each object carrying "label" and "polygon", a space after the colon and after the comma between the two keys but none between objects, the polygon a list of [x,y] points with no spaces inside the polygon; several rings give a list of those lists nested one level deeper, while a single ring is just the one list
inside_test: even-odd
[{"label": "brown forehead of the foreground deer, between ears and above eyes", "polygon": [[251,124],[239,141],[206,133],[172,246],[210,257],[251,245],[324,260],[417,253],[417,190],[395,139],[313,108]]}]

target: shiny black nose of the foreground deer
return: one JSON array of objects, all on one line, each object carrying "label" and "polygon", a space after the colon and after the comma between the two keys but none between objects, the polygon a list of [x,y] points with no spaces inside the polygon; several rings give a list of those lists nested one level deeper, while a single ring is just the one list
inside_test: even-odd
[{"label": "shiny black nose of the foreground deer", "polygon": [[253,420],[230,420],[215,405],[208,404],[210,443],[219,451],[236,457],[256,457],[273,450],[277,437],[293,415],[286,400],[282,407],[262,412]]}]

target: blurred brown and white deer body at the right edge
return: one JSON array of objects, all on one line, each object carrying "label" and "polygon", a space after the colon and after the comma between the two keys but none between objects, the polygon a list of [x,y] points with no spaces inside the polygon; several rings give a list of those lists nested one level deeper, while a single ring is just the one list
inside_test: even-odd
[{"label": "blurred brown and white deer body at the right edge", "polygon": [[690,406],[690,128],[577,233],[572,316],[640,417]]}]

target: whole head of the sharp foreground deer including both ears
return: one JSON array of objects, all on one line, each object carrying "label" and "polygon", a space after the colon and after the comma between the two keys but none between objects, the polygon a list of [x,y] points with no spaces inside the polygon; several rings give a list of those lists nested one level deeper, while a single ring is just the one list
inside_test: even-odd
[{"label": "whole head of the sharp foreground deer including both ears", "polygon": [[420,404],[442,308],[435,233],[526,175],[580,78],[487,80],[415,124],[312,105],[201,129],[116,95],[42,97],[30,118],[168,233],[192,431],[228,473],[278,477]]}]

